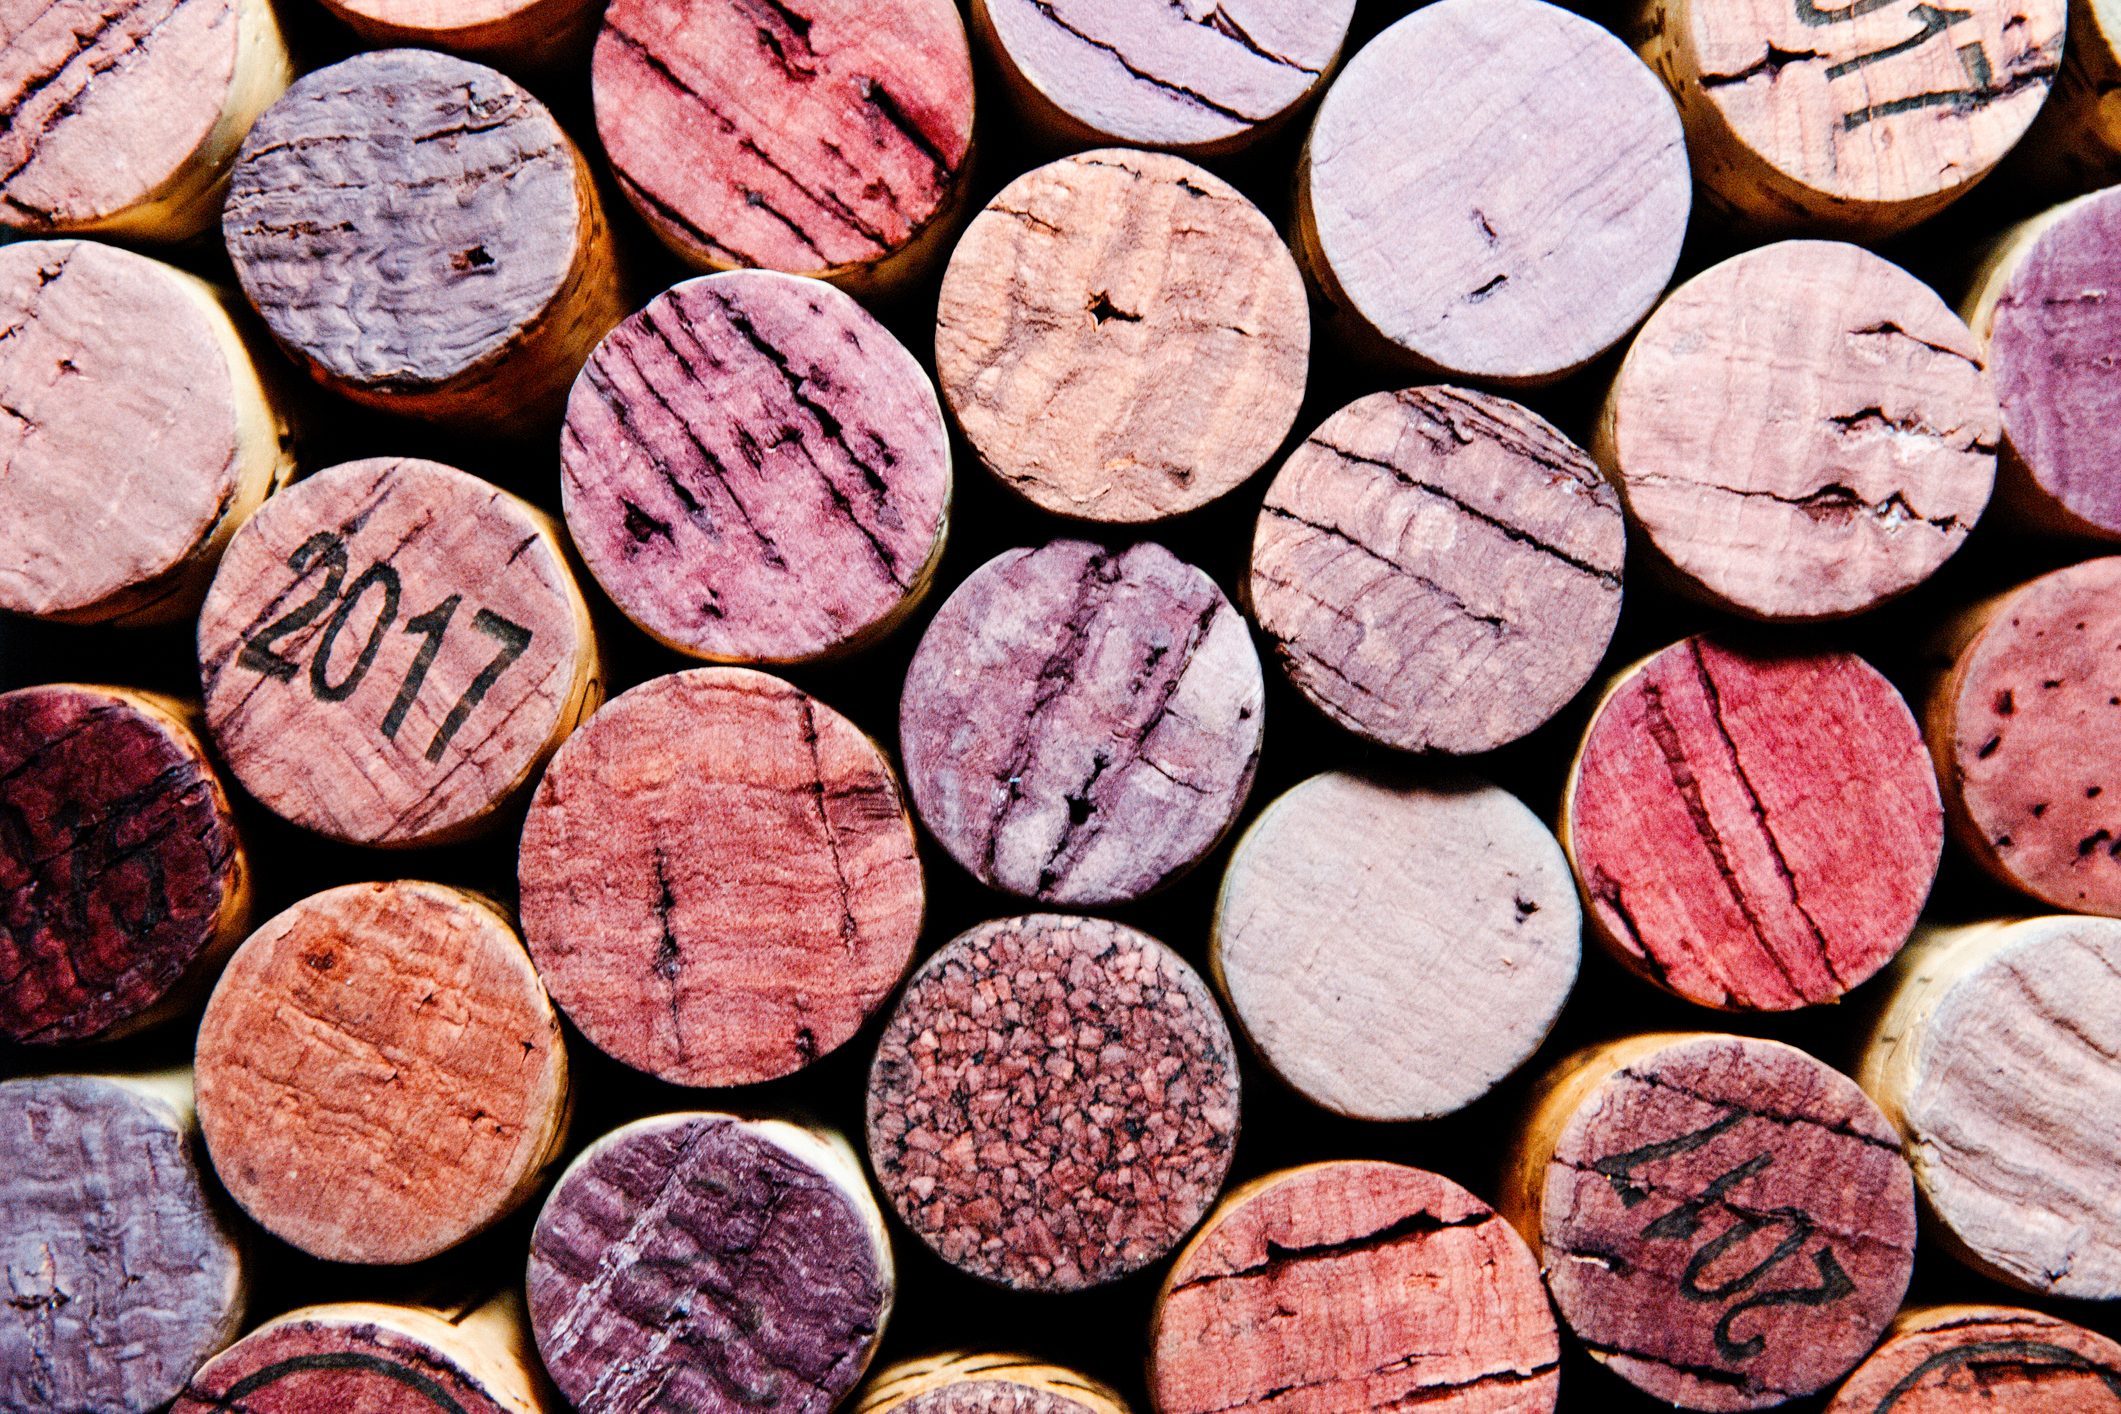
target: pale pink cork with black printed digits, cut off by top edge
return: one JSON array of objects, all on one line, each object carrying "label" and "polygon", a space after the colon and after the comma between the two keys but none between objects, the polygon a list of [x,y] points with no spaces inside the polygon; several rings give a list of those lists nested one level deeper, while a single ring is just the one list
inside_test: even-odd
[{"label": "pale pink cork with black printed digits, cut off by top edge", "polygon": [[1934,216],[2040,110],[2068,0],[1642,0],[1695,176],[1752,229],[1877,240]]}]

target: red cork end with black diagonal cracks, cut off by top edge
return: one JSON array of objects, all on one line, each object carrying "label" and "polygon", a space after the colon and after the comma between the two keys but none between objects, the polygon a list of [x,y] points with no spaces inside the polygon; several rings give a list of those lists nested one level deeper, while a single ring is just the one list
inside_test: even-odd
[{"label": "red cork end with black diagonal cracks, cut off by top edge", "polygon": [[876,265],[935,220],[971,151],[950,0],[617,0],[590,83],[619,189],[715,269]]}]

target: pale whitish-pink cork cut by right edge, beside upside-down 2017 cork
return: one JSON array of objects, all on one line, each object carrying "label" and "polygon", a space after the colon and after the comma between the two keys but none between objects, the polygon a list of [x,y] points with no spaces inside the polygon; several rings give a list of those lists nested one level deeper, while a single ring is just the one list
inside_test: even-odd
[{"label": "pale whitish-pink cork cut by right edge, beside upside-down 2017 cork", "polygon": [[2121,1295],[2121,922],[1926,933],[1858,1079],[1907,1134],[1947,1251],[2038,1295]]}]

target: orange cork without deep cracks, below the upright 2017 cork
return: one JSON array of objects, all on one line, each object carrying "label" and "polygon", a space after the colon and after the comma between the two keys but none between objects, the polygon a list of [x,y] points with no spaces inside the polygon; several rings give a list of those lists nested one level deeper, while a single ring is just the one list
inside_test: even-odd
[{"label": "orange cork without deep cracks, below the upright 2017 cork", "polygon": [[259,926],[206,1003],[197,1071],[229,1194],[327,1261],[456,1247],[566,1141],[560,1018],[509,920],[441,884],[344,884]]}]

